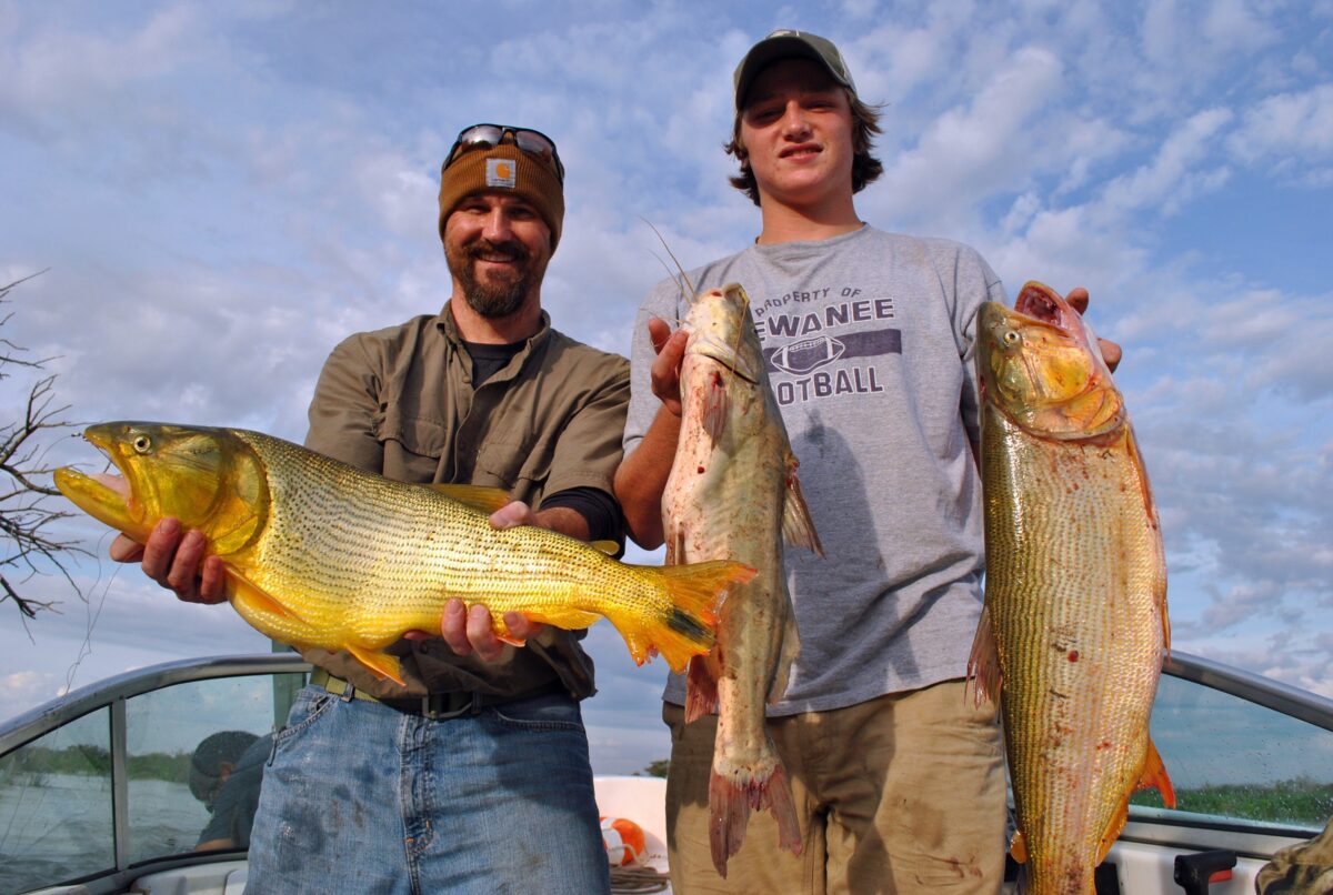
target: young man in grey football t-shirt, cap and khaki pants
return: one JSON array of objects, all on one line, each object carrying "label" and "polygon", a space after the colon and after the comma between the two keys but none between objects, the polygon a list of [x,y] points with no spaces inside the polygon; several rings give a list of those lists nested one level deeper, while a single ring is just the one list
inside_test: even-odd
[{"label": "young man in grey football t-shirt, cap and khaki pants", "polygon": [[[716,717],[684,723],[668,683],[668,846],[677,892],[994,892],[1005,775],[993,705],[964,699],[981,611],[974,316],[1004,301],[973,249],[886,233],[853,194],[882,173],[878,115],[837,47],[776,31],[736,68],[732,184],[760,209],[753,245],[688,274],[740,282],[769,358],[826,558],[788,551],[801,651],[769,730],[792,780],[804,850],[750,816],[722,879],[709,854]],[[1080,309],[1086,292],[1070,293]],[[680,433],[688,297],[643,302],[625,459],[635,541],[663,542],[661,494]],[[1108,354],[1113,346],[1108,346]],[[1108,357],[1108,361],[1113,357]]]}]

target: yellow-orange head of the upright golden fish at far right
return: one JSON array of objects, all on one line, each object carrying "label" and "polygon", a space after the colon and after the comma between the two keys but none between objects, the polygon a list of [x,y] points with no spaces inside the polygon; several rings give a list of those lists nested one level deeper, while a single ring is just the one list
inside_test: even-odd
[{"label": "yellow-orange head of the upright golden fish at far right", "polygon": [[1124,425],[1125,402],[1097,337],[1050,288],[1028,282],[1012,310],[981,305],[977,338],[984,400],[1024,432],[1073,441]]}]

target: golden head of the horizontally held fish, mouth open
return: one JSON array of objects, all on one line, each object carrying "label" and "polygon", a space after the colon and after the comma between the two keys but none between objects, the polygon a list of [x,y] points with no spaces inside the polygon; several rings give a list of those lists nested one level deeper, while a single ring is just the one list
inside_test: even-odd
[{"label": "golden head of the horizontally held fish, mouth open", "polygon": [[227,429],[104,422],[84,438],[120,475],[64,466],[56,487],[88,515],[144,542],[167,517],[199,529],[209,553],[235,554],[264,530],[269,491],[264,462]]}]

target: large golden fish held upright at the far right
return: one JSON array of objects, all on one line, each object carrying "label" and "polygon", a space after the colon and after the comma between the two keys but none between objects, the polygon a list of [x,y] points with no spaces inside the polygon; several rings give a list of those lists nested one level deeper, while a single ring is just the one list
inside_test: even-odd
[{"label": "large golden fish held upright at the far right", "polygon": [[[1082,317],[1029,282],[977,314],[985,609],[969,673],[1001,697],[1028,891],[1093,892],[1129,796],[1174,807],[1148,721],[1170,633],[1157,507]],[[997,689],[998,687],[998,689]]]}]

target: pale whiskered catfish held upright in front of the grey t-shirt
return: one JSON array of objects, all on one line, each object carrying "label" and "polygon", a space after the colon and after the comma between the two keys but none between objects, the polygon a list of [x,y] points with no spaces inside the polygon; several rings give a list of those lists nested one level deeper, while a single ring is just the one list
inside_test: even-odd
[{"label": "pale whiskered catfish held upright in front of the grey t-shirt", "polygon": [[709,842],[713,864],[726,876],[752,810],[769,808],[781,847],[801,851],[790,783],[764,726],[764,706],[786,691],[800,649],[782,537],[822,550],[745,290],[732,284],[697,296],[685,329],[680,441],[663,494],[666,562],[732,559],[758,569],[730,591],[717,649],[690,661],[686,685],[686,722],[718,713]]}]

